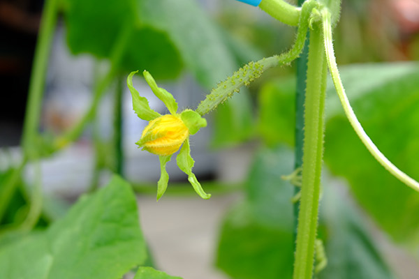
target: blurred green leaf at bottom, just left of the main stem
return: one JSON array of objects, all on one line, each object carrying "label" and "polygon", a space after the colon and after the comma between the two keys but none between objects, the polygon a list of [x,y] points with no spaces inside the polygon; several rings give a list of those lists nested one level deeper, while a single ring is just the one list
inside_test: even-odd
[{"label": "blurred green leaf at bottom, just left of the main stem", "polygon": [[281,179],[292,172],[291,158],[284,148],[259,151],[244,203],[224,220],[216,265],[232,278],[292,277],[293,188]]}]

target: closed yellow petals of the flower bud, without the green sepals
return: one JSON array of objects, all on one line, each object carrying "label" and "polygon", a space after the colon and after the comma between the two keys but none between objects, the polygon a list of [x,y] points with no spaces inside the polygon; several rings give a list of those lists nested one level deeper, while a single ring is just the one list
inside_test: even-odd
[{"label": "closed yellow petals of the flower bud, without the green sepals", "polygon": [[188,136],[189,130],[182,119],[166,114],[149,122],[138,145],[150,153],[169,156],[179,150]]}]

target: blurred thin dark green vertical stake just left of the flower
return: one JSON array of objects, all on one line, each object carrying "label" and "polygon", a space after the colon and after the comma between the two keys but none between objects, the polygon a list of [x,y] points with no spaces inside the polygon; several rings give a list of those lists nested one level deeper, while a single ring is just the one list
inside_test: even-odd
[{"label": "blurred thin dark green vertical stake just left of the flower", "polygon": [[115,92],[114,107],[114,148],[115,148],[115,173],[124,176],[124,150],[122,146],[122,93],[124,93],[124,77],[119,76]]}]

